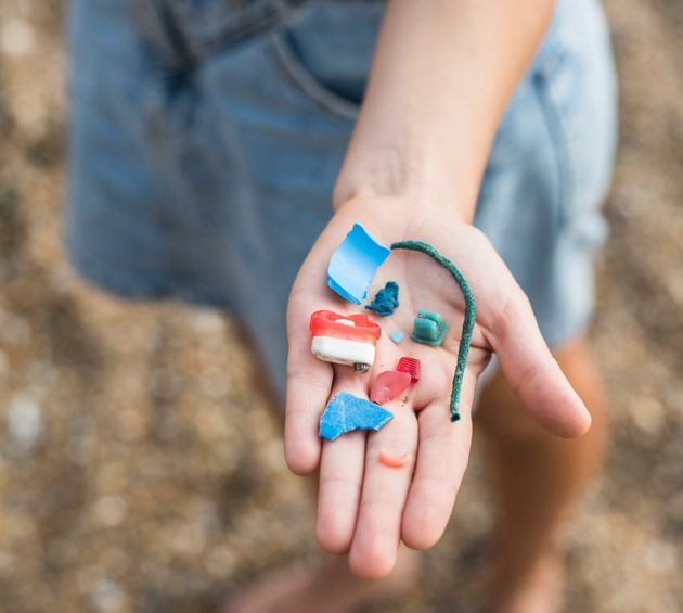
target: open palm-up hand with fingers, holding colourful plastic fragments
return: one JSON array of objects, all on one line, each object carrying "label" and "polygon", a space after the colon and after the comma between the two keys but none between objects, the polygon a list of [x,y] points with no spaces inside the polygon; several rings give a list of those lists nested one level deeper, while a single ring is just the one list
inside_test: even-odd
[{"label": "open palm-up hand with fingers, holding colourful plastic fragments", "polygon": [[[387,245],[425,241],[454,261],[468,280],[477,317],[460,421],[452,423],[449,418],[464,299],[449,272],[424,254],[392,252],[373,280],[369,296],[387,281],[396,281],[400,306],[392,316],[376,318],[383,332],[368,374],[323,362],[311,354],[311,312],[368,312],[326,284],[330,258],[353,222]],[[421,308],[441,314],[450,323],[438,348],[409,339]],[[407,332],[400,345],[389,340],[397,330]],[[591,418],[547,349],[527,297],[488,239],[452,212],[427,214],[396,197],[358,197],[346,203],[299,271],[289,297],[287,331],[286,461],[299,475],[312,473],[320,464],[318,542],[328,553],[349,553],[351,571],[360,578],[386,576],[401,540],[413,549],[426,549],[441,537],[467,465],[476,381],[492,352],[520,401],[546,430],[575,437],[590,427]],[[368,398],[376,376],[395,370],[407,355],[421,360],[421,379],[405,392],[407,401],[399,398],[384,405],[395,413],[394,420],[378,432],[353,431],[333,442],[318,436],[328,400],[340,391]],[[387,467],[378,458],[383,447],[392,456],[409,452],[412,460],[402,469]]]}]

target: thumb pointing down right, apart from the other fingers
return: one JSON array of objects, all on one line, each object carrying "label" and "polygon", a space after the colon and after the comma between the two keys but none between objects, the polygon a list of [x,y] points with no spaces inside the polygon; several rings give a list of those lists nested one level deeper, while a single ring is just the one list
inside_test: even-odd
[{"label": "thumb pointing down right, apart from the other fingers", "polygon": [[553,358],[518,286],[495,319],[489,342],[517,398],[543,427],[565,438],[588,431],[591,416]]}]

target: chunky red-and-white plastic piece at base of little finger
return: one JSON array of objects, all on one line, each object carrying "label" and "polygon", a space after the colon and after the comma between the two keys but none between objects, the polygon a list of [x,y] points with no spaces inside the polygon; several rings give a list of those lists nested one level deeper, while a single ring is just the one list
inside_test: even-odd
[{"label": "chunky red-and-white plastic piece at base of little finger", "polygon": [[375,360],[375,345],[382,329],[369,315],[338,315],[317,310],[311,315],[311,352],[323,361],[352,366],[365,373]]}]

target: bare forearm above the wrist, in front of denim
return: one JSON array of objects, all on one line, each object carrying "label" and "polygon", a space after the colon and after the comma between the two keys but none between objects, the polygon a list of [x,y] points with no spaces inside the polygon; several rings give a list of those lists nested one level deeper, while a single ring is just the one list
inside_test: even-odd
[{"label": "bare forearm above the wrist, in front of denim", "polygon": [[403,196],[474,216],[501,115],[553,0],[389,0],[334,205]]}]

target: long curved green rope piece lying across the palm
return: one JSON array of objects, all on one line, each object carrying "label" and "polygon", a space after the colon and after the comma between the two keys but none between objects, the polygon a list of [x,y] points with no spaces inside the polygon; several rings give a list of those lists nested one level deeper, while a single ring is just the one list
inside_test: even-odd
[{"label": "long curved green rope piece lying across the palm", "polygon": [[460,392],[463,386],[463,376],[465,375],[465,365],[467,363],[467,354],[469,353],[469,344],[472,343],[472,334],[474,332],[476,304],[474,294],[469,289],[469,283],[450,259],[443,257],[431,245],[421,241],[400,241],[391,244],[391,250],[410,250],[427,254],[448,270],[453,279],[458,281],[460,289],[465,297],[465,321],[463,322],[463,333],[458,347],[458,366],[453,375],[453,391],[451,392],[451,421],[455,422],[460,419],[458,406],[460,404]]}]

